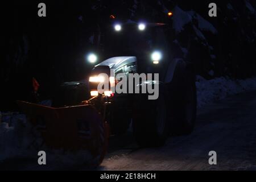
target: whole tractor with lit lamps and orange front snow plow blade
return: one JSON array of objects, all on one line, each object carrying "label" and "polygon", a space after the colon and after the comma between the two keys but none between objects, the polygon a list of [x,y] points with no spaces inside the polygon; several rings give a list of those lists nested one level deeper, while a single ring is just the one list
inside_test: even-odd
[{"label": "whole tractor with lit lamps and orange front snow plow blade", "polygon": [[[129,127],[141,147],[161,146],[171,134],[189,134],[196,120],[195,73],[192,63],[171,52],[167,31],[164,23],[114,24],[102,43],[105,61],[96,64],[95,52],[87,56],[94,65],[88,78],[62,84],[52,107],[18,105],[39,126],[47,146],[89,150],[99,164],[109,135],[121,135]],[[130,84],[136,79],[137,84]],[[100,92],[100,84],[109,87]],[[114,92],[118,84],[122,92]]]}]

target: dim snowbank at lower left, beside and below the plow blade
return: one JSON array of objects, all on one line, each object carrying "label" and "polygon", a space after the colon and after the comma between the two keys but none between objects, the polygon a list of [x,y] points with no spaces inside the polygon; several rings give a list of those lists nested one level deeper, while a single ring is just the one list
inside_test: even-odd
[{"label": "dim snowbank at lower left, beside and below the plow blade", "polygon": [[[26,115],[18,113],[2,113],[0,123],[0,163],[6,159],[31,158],[38,159],[39,151],[46,151],[47,164],[54,166],[93,166],[98,159],[93,159],[88,151],[69,152],[53,150],[43,144],[40,134],[27,122]],[[89,166],[89,165],[88,165]]]}]

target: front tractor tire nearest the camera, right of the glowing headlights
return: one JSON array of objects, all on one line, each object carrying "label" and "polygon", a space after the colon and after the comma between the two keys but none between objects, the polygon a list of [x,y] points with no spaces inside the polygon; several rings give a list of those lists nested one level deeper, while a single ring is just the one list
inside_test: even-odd
[{"label": "front tractor tire nearest the camera, right of the glowing headlights", "polygon": [[135,96],[133,133],[141,147],[159,147],[164,144],[169,133],[166,100],[163,85],[159,85],[157,100],[148,100],[147,94]]}]

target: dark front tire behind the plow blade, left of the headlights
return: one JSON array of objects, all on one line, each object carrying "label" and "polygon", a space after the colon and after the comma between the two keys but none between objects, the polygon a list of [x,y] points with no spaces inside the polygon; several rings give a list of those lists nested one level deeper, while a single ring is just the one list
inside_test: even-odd
[{"label": "dark front tire behind the plow blade, left of the headlights", "polygon": [[88,87],[84,82],[64,82],[56,90],[52,99],[52,106],[75,106],[88,99]]}]

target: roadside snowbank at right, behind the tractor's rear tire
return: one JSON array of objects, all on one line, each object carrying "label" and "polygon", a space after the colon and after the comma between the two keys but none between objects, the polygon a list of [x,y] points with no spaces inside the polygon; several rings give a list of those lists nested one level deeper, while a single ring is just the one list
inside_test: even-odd
[{"label": "roadside snowbank at right, behind the tractor's rear tire", "polygon": [[229,78],[220,77],[212,80],[205,80],[203,77],[197,76],[196,88],[197,106],[201,107],[214,100],[221,100],[228,95],[256,89],[256,78],[231,80]]}]

